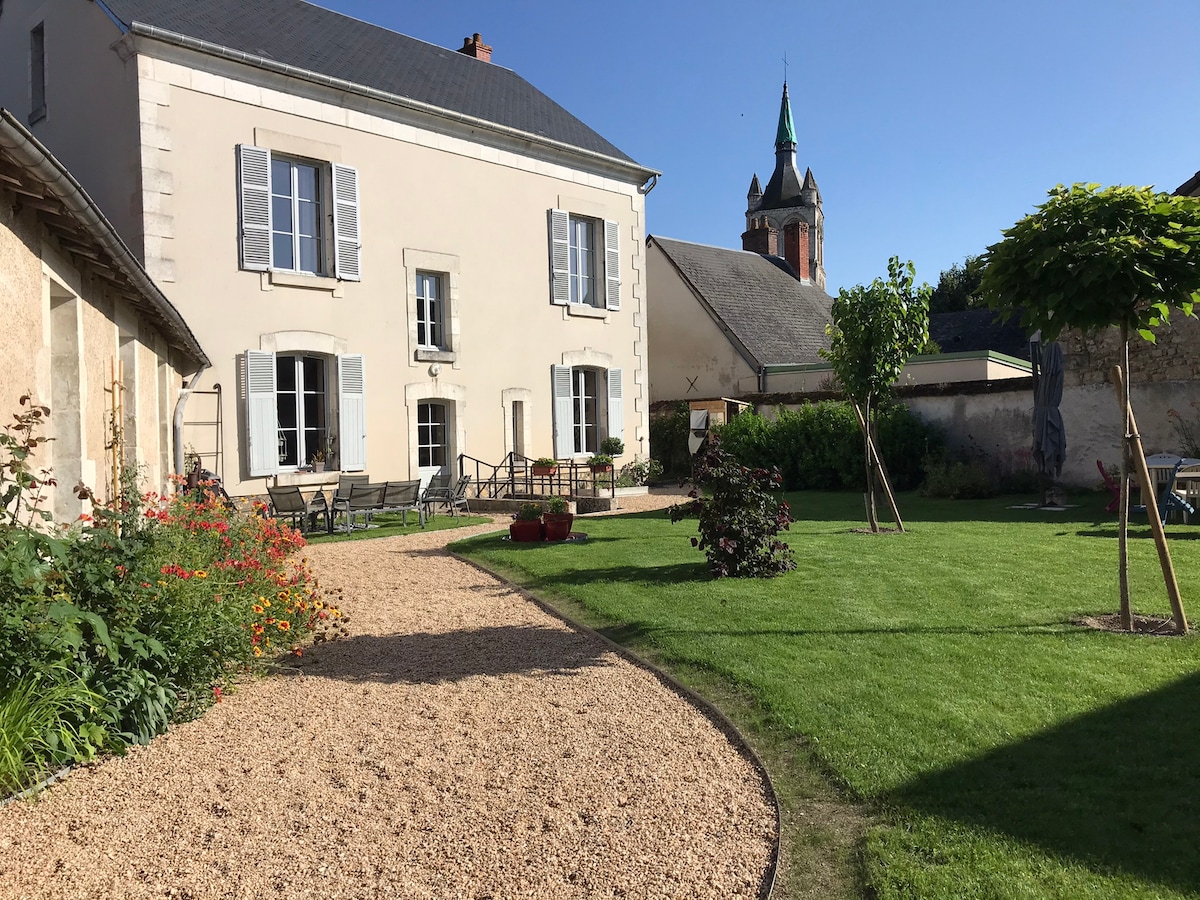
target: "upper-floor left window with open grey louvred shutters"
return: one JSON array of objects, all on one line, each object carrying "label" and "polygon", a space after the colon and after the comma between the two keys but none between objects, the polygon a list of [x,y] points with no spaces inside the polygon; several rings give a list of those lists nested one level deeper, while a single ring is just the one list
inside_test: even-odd
[{"label": "upper-floor left window with open grey louvred shutters", "polygon": [[238,145],[241,268],[361,280],[358,169]]}]

